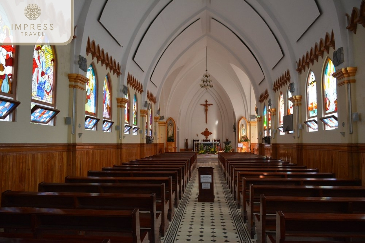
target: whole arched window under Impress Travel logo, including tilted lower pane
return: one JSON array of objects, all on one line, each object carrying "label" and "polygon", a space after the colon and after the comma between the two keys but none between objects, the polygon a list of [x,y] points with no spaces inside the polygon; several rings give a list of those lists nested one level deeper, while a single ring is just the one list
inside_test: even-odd
[{"label": "whole arched window under Impress Travel logo, including tilted lower pane", "polygon": [[33,50],[31,116],[32,123],[54,125],[57,61],[53,46],[35,45]]}]

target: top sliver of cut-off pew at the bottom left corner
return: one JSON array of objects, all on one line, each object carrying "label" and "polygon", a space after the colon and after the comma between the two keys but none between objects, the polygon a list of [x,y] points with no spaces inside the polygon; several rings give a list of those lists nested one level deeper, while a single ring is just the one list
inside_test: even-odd
[{"label": "top sliver of cut-off pew at the bottom left corner", "polygon": [[110,243],[110,239],[85,239],[85,240],[49,240],[49,239],[24,239],[24,238],[4,238],[0,237],[1,243]]}]

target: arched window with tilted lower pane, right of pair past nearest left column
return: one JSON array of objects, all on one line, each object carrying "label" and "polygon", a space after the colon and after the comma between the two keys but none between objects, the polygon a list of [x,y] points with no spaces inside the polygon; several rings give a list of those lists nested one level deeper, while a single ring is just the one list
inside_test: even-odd
[{"label": "arched window with tilted lower pane, right of pair past nearest left column", "polygon": [[106,75],[104,78],[104,85],[103,85],[103,131],[104,132],[111,132],[111,126],[114,122],[111,121],[111,84],[109,75]]}]

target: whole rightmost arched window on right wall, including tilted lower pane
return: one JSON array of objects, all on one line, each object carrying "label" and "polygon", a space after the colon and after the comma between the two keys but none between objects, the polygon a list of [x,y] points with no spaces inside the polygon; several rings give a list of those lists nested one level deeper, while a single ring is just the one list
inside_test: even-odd
[{"label": "whole rightmost arched window on right wall, including tilted lower pane", "polygon": [[325,121],[325,130],[337,128],[337,89],[336,78],[332,77],[335,72],[335,66],[331,59],[327,59],[323,72],[323,105],[324,105],[324,117],[329,118],[328,122]]}]

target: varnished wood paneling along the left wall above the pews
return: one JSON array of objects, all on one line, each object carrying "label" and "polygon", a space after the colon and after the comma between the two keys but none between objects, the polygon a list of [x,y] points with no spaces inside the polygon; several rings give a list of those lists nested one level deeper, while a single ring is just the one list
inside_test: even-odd
[{"label": "varnished wood paneling along the left wall above the pews", "polygon": [[158,144],[0,144],[0,192],[37,191],[41,181],[64,182],[157,150]]}]

